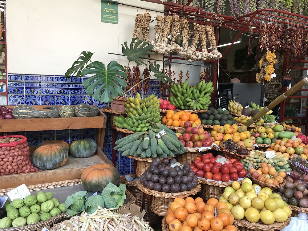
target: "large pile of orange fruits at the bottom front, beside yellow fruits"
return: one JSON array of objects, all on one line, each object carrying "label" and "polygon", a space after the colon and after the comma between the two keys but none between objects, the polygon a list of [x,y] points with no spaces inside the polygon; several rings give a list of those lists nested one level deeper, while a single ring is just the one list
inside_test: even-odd
[{"label": "large pile of orange fruits at the bottom front, beside yellow fruits", "polygon": [[227,204],[215,198],[205,204],[201,197],[186,197],[185,200],[177,197],[167,210],[165,221],[170,231],[237,231]]}]

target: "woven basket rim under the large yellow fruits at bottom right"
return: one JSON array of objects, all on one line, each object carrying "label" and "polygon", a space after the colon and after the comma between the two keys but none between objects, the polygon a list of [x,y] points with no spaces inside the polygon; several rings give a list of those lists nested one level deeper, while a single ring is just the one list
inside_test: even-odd
[{"label": "woven basket rim under the large yellow fruits at bottom right", "polygon": [[285,222],[274,222],[271,225],[265,225],[262,222],[257,223],[250,223],[246,220],[234,220],[234,224],[236,224],[240,231],[250,231],[250,230],[264,230],[264,231],[274,231],[280,230],[290,224],[291,218],[289,217],[288,220]]}]

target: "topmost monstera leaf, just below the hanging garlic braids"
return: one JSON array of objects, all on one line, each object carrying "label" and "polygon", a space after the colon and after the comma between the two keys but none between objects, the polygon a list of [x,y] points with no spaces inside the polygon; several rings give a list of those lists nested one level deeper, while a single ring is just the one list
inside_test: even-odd
[{"label": "topmost monstera leaf, just below the hanging garlic braids", "polygon": [[[154,47],[152,44],[143,42],[142,40],[137,41],[134,45],[135,41],[136,41],[136,38],[133,38],[130,47],[127,46],[127,42],[124,42],[124,45],[122,44],[122,53],[123,55],[127,56],[127,59],[129,61],[134,61],[138,65],[143,64],[147,66],[147,64],[144,63],[141,59],[151,59],[148,57],[148,55],[151,55],[154,53],[154,52],[151,52],[151,50],[153,50]],[[140,44],[141,46],[139,47]]]}]

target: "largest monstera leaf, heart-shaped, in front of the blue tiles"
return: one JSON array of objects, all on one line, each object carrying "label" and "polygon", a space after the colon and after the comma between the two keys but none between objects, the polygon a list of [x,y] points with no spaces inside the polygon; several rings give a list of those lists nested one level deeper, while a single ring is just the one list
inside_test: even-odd
[{"label": "largest monstera leaf, heart-shaped, in front of the blue tiles", "polygon": [[81,76],[91,74],[92,76],[83,80],[83,86],[90,96],[93,95],[93,98],[100,102],[110,103],[113,98],[115,99],[123,93],[122,87],[126,88],[127,83],[124,81],[124,79],[127,79],[125,69],[116,61],[111,61],[107,68],[105,64],[98,61],[90,63],[82,70]]}]

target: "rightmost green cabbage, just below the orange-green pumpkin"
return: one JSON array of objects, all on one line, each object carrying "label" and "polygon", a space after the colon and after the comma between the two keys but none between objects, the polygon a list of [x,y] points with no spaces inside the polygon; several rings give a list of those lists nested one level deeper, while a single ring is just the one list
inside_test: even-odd
[{"label": "rightmost green cabbage, just below the orange-green pumpkin", "polygon": [[105,202],[105,208],[118,209],[120,206],[122,206],[126,198],[125,189],[125,184],[120,184],[119,187],[112,184],[111,182],[107,184],[101,193],[101,196],[103,197]]}]

